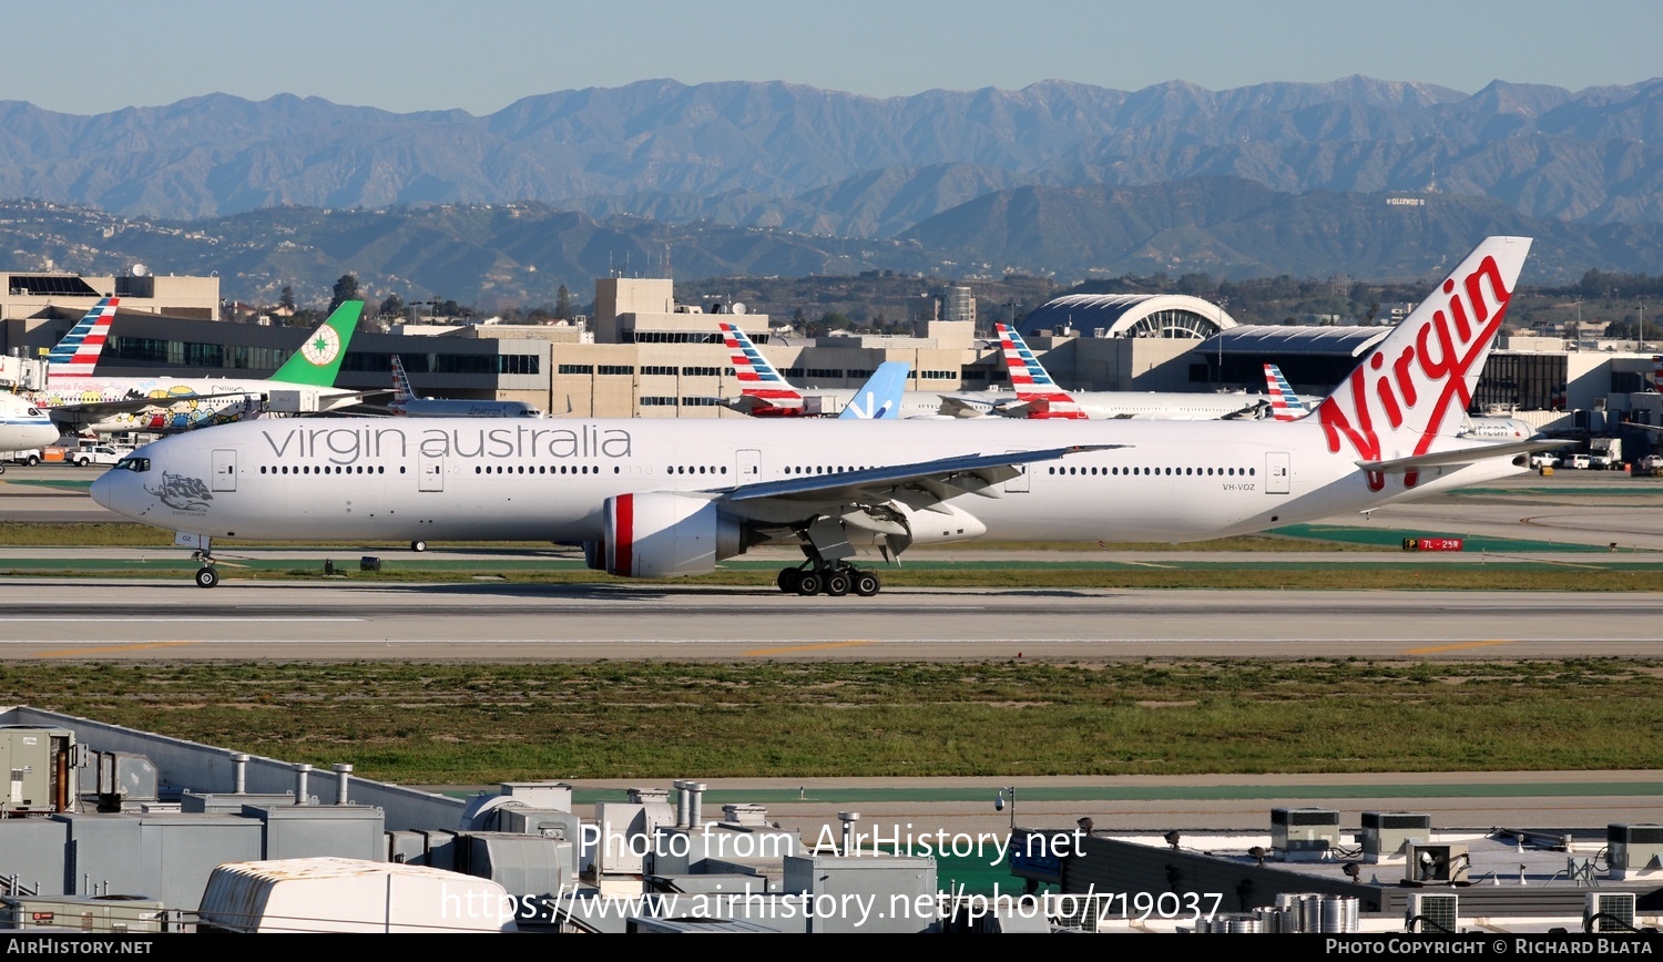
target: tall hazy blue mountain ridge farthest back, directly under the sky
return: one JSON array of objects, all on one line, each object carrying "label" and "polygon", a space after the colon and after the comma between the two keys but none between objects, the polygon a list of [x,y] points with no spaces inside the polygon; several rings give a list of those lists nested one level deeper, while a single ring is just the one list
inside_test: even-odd
[{"label": "tall hazy blue mountain ridge farthest back, directly under the sky", "polygon": [[539,201],[893,238],[1023,186],[1239,178],[1284,193],[1437,189],[1583,224],[1663,223],[1663,80],[1478,93],[1352,76],[1209,91],[1043,81],[866,98],[647,80],[497,113],[226,95],[98,116],[0,101],[0,198],[125,216]]}]

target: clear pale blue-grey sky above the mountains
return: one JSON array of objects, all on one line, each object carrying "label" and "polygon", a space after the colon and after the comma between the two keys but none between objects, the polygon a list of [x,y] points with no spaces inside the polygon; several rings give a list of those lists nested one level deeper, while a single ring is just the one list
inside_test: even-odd
[{"label": "clear pale blue-grey sky above the mountains", "polygon": [[5,25],[0,100],[65,113],[220,91],[477,115],[660,76],[903,96],[1046,78],[1227,90],[1362,73],[1470,93],[1663,75],[1663,0],[70,0],[8,5]]}]

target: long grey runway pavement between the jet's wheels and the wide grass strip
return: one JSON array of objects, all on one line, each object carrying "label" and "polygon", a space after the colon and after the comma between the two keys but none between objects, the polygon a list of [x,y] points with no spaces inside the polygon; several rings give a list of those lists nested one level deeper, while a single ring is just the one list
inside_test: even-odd
[{"label": "long grey runway pavement between the jet's wheels and the wide grass strip", "polygon": [[1507,591],[0,583],[0,658],[1068,660],[1658,655],[1663,598]]}]

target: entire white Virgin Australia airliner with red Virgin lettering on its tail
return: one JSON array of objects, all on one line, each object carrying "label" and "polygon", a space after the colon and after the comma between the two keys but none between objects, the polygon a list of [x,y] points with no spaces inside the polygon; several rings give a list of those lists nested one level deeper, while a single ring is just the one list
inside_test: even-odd
[{"label": "entire white Virgin Australia airliner with red Virgin lettering on its tail", "polygon": [[1528,249],[1487,239],[1294,422],[248,422],[140,449],[91,495],[196,543],[203,587],[210,538],[584,542],[625,577],[790,543],[782,590],[873,595],[860,548],[1259,532],[1528,470],[1538,442],[1455,434]]}]

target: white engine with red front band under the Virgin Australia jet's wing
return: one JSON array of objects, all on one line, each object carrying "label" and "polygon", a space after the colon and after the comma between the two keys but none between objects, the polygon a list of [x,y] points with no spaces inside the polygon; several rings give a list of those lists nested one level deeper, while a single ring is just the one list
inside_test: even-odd
[{"label": "white engine with red front band under the Virgin Australia jet's wing", "polygon": [[708,575],[717,562],[743,552],[740,523],[707,498],[670,492],[610,497],[605,525],[605,570],[625,578]]}]

